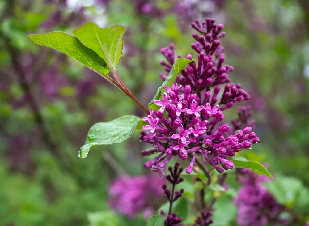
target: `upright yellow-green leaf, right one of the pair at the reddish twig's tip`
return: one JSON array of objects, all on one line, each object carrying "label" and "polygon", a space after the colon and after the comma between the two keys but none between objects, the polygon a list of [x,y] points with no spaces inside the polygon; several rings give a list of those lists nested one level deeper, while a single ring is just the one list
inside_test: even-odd
[{"label": "upright yellow-green leaf, right one of the pair at the reddish twig's tip", "polygon": [[95,51],[110,70],[116,71],[122,53],[124,27],[114,25],[100,28],[95,23],[88,22],[73,33],[86,47]]}]

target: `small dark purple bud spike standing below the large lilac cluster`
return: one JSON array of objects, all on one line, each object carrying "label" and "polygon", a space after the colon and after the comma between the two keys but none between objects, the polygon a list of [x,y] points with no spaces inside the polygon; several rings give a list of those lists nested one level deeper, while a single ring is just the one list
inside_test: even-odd
[{"label": "small dark purple bud spike standing below the large lilac cluster", "polygon": [[160,214],[165,217],[165,226],[176,225],[182,221],[182,218],[177,217],[176,213],[171,213],[171,207],[173,203],[184,193],[184,189],[180,189],[179,191],[174,192],[175,185],[184,181],[184,178],[180,177],[180,173],[182,172],[182,170],[182,168],[179,168],[179,163],[176,163],[174,167],[169,166],[168,171],[170,172],[170,174],[166,176],[166,180],[171,183],[173,189],[171,191],[167,189],[166,184],[162,185],[162,189],[164,190],[167,200],[170,202],[170,210],[168,216],[166,216],[163,210],[160,211]]}]

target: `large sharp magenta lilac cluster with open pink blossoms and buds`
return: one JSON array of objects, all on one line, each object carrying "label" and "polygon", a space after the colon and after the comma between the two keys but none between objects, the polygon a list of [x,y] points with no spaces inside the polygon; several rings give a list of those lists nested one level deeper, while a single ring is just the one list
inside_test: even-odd
[{"label": "large sharp magenta lilac cluster with open pink blossoms and buds", "polygon": [[[159,153],[153,160],[146,162],[145,167],[164,174],[163,168],[173,156],[187,159],[192,157],[186,173],[192,172],[197,156],[201,156],[218,172],[234,168],[228,156],[260,140],[252,128],[245,127],[228,135],[229,126],[219,124],[224,119],[223,111],[231,108],[235,102],[248,100],[250,96],[241,89],[240,84],[229,83],[228,72],[232,66],[223,64],[224,48],[218,39],[225,36],[223,25],[215,24],[214,19],[206,19],[202,23],[196,20],[191,24],[200,35],[193,33],[196,40],[191,45],[198,53],[197,64],[191,62],[178,75],[176,83],[171,88],[164,87],[162,100],[155,100],[160,107],[152,109],[148,117],[143,118],[149,125],[143,126],[140,140],[154,146],[153,149],[143,150],[142,156]],[[167,61],[161,61],[165,71],[169,73],[175,63],[174,45],[161,49]],[[181,56],[178,56],[180,58]],[[187,59],[192,59],[191,55]],[[162,79],[167,75],[161,73]],[[225,84],[220,96],[220,85]],[[222,166],[219,166],[221,164]]]}]

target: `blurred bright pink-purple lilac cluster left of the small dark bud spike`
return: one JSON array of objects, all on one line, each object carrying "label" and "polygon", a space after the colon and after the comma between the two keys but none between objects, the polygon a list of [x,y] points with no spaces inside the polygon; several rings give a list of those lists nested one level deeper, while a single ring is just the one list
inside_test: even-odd
[{"label": "blurred bright pink-purple lilac cluster left of the small dark bud spike", "polygon": [[110,207],[130,218],[143,213],[148,219],[154,212],[147,198],[163,196],[162,184],[157,176],[120,177],[109,186]]}]

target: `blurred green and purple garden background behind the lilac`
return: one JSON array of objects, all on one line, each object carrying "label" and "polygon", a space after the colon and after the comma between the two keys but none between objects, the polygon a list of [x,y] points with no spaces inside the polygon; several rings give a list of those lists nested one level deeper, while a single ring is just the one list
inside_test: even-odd
[{"label": "blurred green and purple garden background behind the lilac", "polygon": [[[116,216],[108,205],[114,178],[147,173],[138,134],[77,155],[93,124],[145,115],[93,71],[27,37],[87,21],[125,26],[118,73],[145,105],[162,83],[160,48],[194,54],[191,21],[224,23],[230,77],[251,96],[261,141],[247,157],[309,186],[309,1],[1,0],[0,11],[0,225],[145,225],[142,214]],[[233,205],[222,208],[233,222]]]}]

